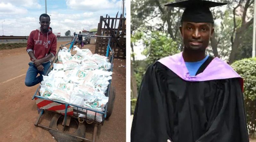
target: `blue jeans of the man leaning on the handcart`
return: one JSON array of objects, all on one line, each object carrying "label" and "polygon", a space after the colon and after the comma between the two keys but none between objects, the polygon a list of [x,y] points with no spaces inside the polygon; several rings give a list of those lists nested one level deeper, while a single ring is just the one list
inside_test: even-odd
[{"label": "blue jeans of the man leaning on the handcart", "polygon": [[[35,86],[36,84],[40,83],[43,80],[43,75],[46,75],[46,72],[49,69],[51,64],[50,62],[42,64],[44,66],[44,71],[38,71],[36,66],[31,62],[29,62],[28,65],[29,67],[26,74],[25,85]],[[40,74],[40,76],[36,77],[38,73]]]}]

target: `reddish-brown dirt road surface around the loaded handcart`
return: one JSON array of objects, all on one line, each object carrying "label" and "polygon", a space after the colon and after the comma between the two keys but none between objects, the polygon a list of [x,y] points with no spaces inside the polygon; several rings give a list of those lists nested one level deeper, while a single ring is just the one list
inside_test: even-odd
[{"label": "reddish-brown dirt road surface around the loaded handcart", "polygon": [[[58,42],[57,47],[68,42]],[[84,45],[94,53],[94,44]],[[35,100],[31,100],[38,85],[24,84],[29,56],[26,48],[0,50],[0,141],[56,142],[45,129],[35,127],[38,117]],[[104,125],[99,125],[96,141],[125,141],[125,60],[114,59],[112,85],[116,87],[113,113]],[[41,124],[49,125],[54,113],[46,112]],[[86,124],[86,137],[91,139],[93,125]]]}]

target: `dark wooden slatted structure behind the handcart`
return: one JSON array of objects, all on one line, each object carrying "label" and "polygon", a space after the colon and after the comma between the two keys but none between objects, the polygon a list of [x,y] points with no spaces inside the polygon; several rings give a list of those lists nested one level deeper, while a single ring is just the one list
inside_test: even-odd
[{"label": "dark wooden slatted structure behind the handcart", "polygon": [[[117,18],[117,14],[116,18],[110,18],[108,14],[106,18],[100,16],[97,35],[111,36],[110,47],[115,52],[114,57],[124,59],[126,57],[126,18],[122,18],[122,14]],[[105,56],[107,46],[108,38],[97,37],[95,53]]]}]

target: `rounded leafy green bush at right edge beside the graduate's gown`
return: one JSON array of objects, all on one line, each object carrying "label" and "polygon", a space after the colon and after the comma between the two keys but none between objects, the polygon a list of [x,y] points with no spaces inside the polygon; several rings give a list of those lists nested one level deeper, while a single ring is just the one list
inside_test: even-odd
[{"label": "rounded leafy green bush at right edge beside the graduate's gown", "polygon": [[249,135],[256,133],[256,58],[236,61],[231,65],[244,79],[244,105]]}]

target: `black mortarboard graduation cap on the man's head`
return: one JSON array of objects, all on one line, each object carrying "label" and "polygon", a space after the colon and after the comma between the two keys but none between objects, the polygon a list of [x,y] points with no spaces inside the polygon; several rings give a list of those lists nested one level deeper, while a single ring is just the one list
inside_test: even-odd
[{"label": "black mortarboard graduation cap on the man's head", "polygon": [[214,23],[210,7],[221,6],[227,3],[217,3],[205,0],[186,0],[165,6],[185,8],[181,22]]}]

